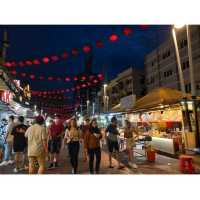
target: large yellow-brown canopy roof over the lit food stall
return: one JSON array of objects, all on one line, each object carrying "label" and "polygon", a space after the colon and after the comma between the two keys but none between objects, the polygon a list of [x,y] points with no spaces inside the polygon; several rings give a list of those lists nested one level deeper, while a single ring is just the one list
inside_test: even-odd
[{"label": "large yellow-brown canopy roof over the lit food stall", "polygon": [[170,105],[180,102],[191,95],[171,88],[158,88],[136,101],[134,110],[153,108],[159,105]]}]

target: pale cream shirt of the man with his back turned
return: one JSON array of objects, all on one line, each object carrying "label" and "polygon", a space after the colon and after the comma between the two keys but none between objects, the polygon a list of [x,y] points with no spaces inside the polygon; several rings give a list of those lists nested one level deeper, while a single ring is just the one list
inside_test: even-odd
[{"label": "pale cream shirt of the man with his back turned", "polygon": [[47,132],[44,126],[34,124],[25,133],[28,138],[28,156],[39,156],[45,152],[43,140],[47,140]]}]

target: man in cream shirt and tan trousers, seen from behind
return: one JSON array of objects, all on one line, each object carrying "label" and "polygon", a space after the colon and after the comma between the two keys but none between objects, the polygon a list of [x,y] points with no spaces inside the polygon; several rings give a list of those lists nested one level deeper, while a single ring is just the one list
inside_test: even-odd
[{"label": "man in cream shirt and tan trousers, seen from behind", "polygon": [[[44,174],[48,146],[47,131],[42,116],[36,117],[35,124],[27,129],[25,137],[28,138],[29,174]],[[38,171],[36,164],[39,165]]]}]

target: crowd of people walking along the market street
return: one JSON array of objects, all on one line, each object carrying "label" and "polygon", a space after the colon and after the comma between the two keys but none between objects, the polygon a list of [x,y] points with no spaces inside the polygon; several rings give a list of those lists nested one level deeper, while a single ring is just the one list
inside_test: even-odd
[{"label": "crowd of people walking along the market street", "polygon": [[[119,131],[117,119],[113,117],[111,123],[103,131],[98,127],[96,118],[86,117],[82,125],[77,125],[75,118],[64,125],[59,116],[50,121],[46,127],[45,119],[37,116],[31,125],[25,124],[24,117],[10,116],[0,123],[0,150],[2,154],[1,166],[14,165],[14,172],[28,170],[29,174],[44,174],[46,170],[60,166],[60,151],[67,147],[72,174],[79,169],[80,144],[83,146],[82,157],[88,162],[90,174],[99,174],[101,166],[102,140],[106,141],[109,168],[114,168],[112,158],[118,161],[118,169],[124,165],[120,162]],[[124,128],[126,138],[126,152],[129,165],[137,168],[134,162],[134,138],[137,132],[127,120]],[[47,164],[49,165],[47,166]]]}]

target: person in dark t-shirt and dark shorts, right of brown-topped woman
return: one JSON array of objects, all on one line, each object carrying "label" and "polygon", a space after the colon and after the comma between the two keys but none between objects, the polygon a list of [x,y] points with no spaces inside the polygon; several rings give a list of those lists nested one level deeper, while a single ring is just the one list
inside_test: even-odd
[{"label": "person in dark t-shirt and dark shorts, right of brown-topped woman", "polygon": [[120,155],[119,155],[119,143],[118,136],[119,131],[117,130],[117,118],[112,117],[111,124],[106,129],[107,137],[107,146],[109,151],[109,168],[114,168],[112,165],[112,156],[115,154],[118,161],[118,169],[122,169],[124,166],[120,164]]}]

